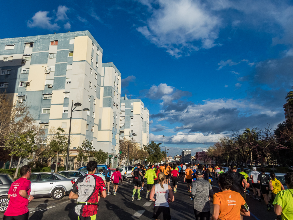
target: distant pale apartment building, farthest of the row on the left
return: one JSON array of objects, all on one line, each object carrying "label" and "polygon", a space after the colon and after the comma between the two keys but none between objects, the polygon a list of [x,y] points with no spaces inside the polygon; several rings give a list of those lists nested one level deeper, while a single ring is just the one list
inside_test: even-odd
[{"label": "distant pale apartment building, farthest of the row on the left", "polygon": [[127,95],[120,100],[120,133],[119,137],[130,137],[135,142],[143,145],[149,143],[149,110],[144,107],[140,99],[127,99]]}]

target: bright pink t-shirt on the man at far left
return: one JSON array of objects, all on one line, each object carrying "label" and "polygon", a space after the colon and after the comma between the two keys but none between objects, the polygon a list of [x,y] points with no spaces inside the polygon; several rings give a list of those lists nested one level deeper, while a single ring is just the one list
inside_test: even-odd
[{"label": "bright pink t-shirt on the man at far left", "polygon": [[11,184],[8,191],[8,194],[10,194],[10,200],[4,215],[17,216],[28,212],[29,201],[19,194],[19,190],[21,189],[30,194],[30,181],[23,177],[19,178]]}]

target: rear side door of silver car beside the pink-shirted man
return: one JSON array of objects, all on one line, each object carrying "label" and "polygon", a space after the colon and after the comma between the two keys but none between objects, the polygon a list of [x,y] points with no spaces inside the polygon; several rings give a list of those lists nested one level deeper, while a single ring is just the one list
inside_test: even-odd
[{"label": "rear side door of silver car beside the pink-shirted man", "polygon": [[52,174],[41,173],[38,181],[35,183],[35,195],[49,194],[55,184],[56,180]]}]

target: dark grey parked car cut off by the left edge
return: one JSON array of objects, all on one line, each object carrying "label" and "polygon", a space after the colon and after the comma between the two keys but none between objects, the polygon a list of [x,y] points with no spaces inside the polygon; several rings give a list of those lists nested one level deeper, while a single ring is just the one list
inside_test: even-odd
[{"label": "dark grey parked car cut off by the left edge", "polygon": [[14,182],[13,178],[6,173],[0,173],[0,211],[6,211],[9,199],[8,191],[11,184]]}]

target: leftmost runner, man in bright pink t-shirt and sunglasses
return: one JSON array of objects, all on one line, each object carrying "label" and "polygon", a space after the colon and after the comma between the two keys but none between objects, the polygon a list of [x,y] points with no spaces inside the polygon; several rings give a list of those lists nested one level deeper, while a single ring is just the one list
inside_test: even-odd
[{"label": "leftmost runner, man in bright pink t-shirt and sunglasses", "polygon": [[28,220],[28,204],[34,199],[30,195],[31,169],[29,165],[24,165],[20,169],[21,178],[15,180],[8,191],[8,207],[4,213],[4,220]]}]

